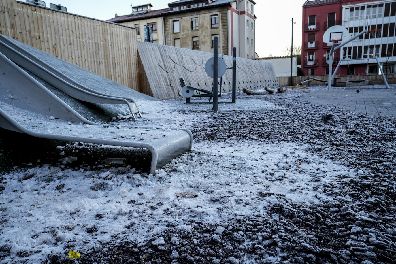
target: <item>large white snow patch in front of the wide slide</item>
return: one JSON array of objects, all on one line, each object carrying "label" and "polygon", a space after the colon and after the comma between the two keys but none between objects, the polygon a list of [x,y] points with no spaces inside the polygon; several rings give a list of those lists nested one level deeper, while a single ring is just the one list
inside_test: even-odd
[{"label": "large white snow patch in front of the wide slide", "polygon": [[[183,218],[220,224],[228,218],[266,214],[263,208],[278,202],[276,196],[314,204],[324,196],[322,190],[312,191],[318,181],[355,175],[350,168],[305,153],[301,147],[199,143],[190,154],[166,166],[169,174],[162,169],[148,177],[124,168],[86,171],[43,166],[10,173],[4,175],[6,190],[1,195],[5,222],[0,244],[10,245],[11,259],[20,252],[40,251],[29,258],[36,262],[62,252],[67,241],[75,241],[76,251],[84,252],[131,223],[138,232],[128,238],[143,243],[148,234],[154,236],[164,228],[159,223],[174,221],[177,228],[191,228]],[[33,177],[21,180],[28,175]],[[179,192],[198,197],[177,198]],[[259,192],[265,199],[256,199]],[[97,230],[106,231],[97,234]]]}]

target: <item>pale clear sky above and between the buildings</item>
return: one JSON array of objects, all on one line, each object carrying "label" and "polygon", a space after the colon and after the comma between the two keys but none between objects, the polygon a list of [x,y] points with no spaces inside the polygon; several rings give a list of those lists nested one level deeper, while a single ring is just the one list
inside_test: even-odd
[{"label": "pale clear sky above and between the buildings", "polygon": [[[107,20],[132,12],[131,4],[137,6],[151,3],[152,9],[167,8],[174,0],[58,0],[54,4],[67,7],[69,13]],[[293,46],[301,46],[302,14],[305,0],[255,0],[256,52],[259,57],[284,56],[291,46],[291,19],[294,18]],[[46,1],[49,7],[49,1]]]}]

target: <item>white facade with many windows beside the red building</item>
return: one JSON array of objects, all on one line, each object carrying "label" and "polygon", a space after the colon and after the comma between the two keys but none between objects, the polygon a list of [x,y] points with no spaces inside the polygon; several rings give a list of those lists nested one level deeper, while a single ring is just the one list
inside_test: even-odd
[{"label": "white facade with many windows beside the red building", "polygon": [[[342,7],[342,25],[350,37],[367,30],[378,30],[364,34],[345,45],[341,51],[341,65],[348,66],[348,74],[379,74],[377,60],[384,73],[396,73],[396,1],[382,0]],[[380,30],[379,30],[380,29]]]}]

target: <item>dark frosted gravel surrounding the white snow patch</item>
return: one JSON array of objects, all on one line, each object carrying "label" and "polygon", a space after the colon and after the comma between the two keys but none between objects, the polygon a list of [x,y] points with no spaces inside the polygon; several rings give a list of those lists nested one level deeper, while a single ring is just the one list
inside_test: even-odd
[{"label": "dark frosted gravel surrounding the white snow patch", "polygon": [[[192,227],[186,230],[175,228],[169,220],[162,223],[166,225],[162,231],[144,243],[126,240],[125,236],[134,232],[133,224],[126,225],[112,235],[112,240],[81,252],[79,260],[68,257],[74,248],[70,242],[63,247],[63,253],[48,255],[43,263],[396,263],[395,122],[296,99],[296,95],[315,89],[323,88],[276,95],[237,95],[238,100],[254,98],[273,103],[278,107],[274,110],[178,109],[175,115],[193,116],[195,122],[180,124],[192,131],[196,144],[230,140],[252,145],[301,144],[303,151],[356,173],[354,177],[341,173],[332,181],[321,181],[327,172],[314,168],[316,178],[310,181],[314,184],[312,190],[321,194],[317,196],[318,203],[297,202],[263,188],[251,199],[264,201],[274,196],[275,201],[262,204],[265,213],[261,210],[247,217],[224,217],[220,224],[190,215],[183,218]],[[229,97],[223,95],[222,100]],[[334,118],[322,122],[326,113]],[[293,154],[285,151],[283,155],[287,158]],[[304,158],[296,159],[310,164]],[[164,169],[171,176],[177,173],[174,163]],[[268,180],[284,179],[273,179],[268,171]],[[207,192],[210,194],[211,190]],[[299,190],[291,192],[305,195]],[[227,207],[225,199],[220,196],[212,202],[225,203]],[[246,200],[241,199],[241,203],[249,205]],[[0,247],[0,256],[9,252],[7,245]]]}]

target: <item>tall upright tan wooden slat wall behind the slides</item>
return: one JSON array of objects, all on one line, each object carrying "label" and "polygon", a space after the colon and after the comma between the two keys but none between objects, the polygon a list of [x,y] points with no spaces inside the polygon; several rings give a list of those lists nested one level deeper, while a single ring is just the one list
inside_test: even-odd
[{"label": "tall upright tan wooden slat wall behind the slides", "polygon": [[0,34],[139,90],[135,28],[0,0]]}]

